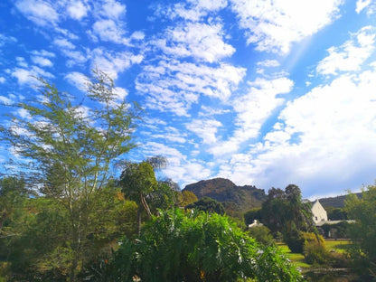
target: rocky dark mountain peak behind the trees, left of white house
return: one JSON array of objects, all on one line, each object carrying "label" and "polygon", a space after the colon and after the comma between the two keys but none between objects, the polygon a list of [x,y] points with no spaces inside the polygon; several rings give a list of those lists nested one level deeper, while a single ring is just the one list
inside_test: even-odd
[{"label": "rocky dark mountain peak behind the trees, left of white house", "polygon": [[265,191],[252,185],[237,186],[228,179],[214,178],[186,185],[183,190],[194,193],[197,198],[211,197],[218,202],[234,203],[240,211],[260,207],[267,199]]}]

